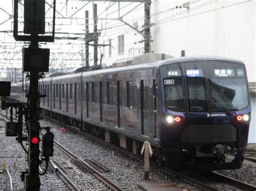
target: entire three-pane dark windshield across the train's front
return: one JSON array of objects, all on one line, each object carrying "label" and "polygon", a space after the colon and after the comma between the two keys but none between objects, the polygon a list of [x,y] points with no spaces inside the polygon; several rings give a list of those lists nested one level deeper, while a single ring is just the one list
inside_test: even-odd
[{"label": "entire three-pane dark windshield across the train's front", "polygon": [[185,111],[185,100],[190,112],[208,112],[208,105],[212,112],[235,111],[249,104],[244,65],[205,61],[204,68],[203,61],[193,61],[183,63],[183,67],[181,63],[161,67],[165,105],[170,110]]}]

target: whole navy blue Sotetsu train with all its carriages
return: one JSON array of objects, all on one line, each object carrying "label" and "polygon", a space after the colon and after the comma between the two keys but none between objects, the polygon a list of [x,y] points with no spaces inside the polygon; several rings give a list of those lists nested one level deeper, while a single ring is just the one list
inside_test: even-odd
[{"label": "whole navy blue Sotetsu train with all its carriages", "polygon": [[[40,80],[42,114],[134,154],[148,141],[154,158],[174,169],[242,166],[251,117],[244,63],[213,56],[117,63],[131,65]],[[21,82],[11,97],[26,102]]]}]

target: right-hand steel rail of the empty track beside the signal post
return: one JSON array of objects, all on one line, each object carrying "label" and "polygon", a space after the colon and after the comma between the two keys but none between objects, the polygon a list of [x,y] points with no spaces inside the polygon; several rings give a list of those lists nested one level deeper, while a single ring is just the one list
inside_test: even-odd
[{"label": "right-hand steel rail of the empty track beside the signal post", "polygon": [[102,173],[100,173],[99,171],[97,171],[97,169],[95,169],[94,167],[92,167],[90,164],[88,164],[86,161],[78,158],[75,154],[73,154],[72,152],[70,152],[67,148],[65,148],[64,146],[60,145],[58,142],[54,141],[54,144],[59,147],[63,152],[65,152],[66,154],[68,154],[71,158],[80,161],[83,165],[85,165],[86,167],[90,168],[92,173],[97,176],[99,179],[101,179],[103,182],[105,182],[107,185],[109,185],[111,188],[113,188],[114,190],[123,190],[122,188],[120,188],[118,185],[116,185],[116,183],[112,182],[111,180],[107,179]]}]

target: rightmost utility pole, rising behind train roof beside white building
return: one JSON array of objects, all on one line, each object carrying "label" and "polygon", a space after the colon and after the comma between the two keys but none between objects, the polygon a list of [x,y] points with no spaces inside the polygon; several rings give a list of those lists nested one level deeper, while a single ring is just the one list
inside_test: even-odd
[{"label": "rightmost utility pole, rising behind train roof beside white building", "polygon": [[150,5],[151,3],[145,3],[144,5],[144,53],[150,52]]}]

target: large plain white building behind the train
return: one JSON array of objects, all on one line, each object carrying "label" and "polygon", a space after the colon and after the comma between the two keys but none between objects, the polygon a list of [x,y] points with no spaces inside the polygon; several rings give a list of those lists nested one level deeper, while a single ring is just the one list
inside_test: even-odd
[{"label": "large plain white building behind the train", "polygon": [[[120,16],[139,31],[144,29],[144,4],[114,4],[99,18],[103,62],[143,54],[143,36],[124,22],[113,20]],[[101,6],[98,6],[101,9]],[[104,6],[104,9],[106,7]],[[131,11],[130,11],[131,10]],[[167,1],[151,3],[150,51],[180,56],[213,55],[235,58],[246,65],[248,81],[255,91],[255,1]],[[130,11],[130,12],[129,12]],[[100,12],[100,11],[98,11]],[[129,13],[127,13],[129,12]],[[100,28],[99,27],[99,28]],[[252,89],[253,91],[253,89]],[[251,94],[252,121],[249,143],[256,143],[256,96]]]}]

